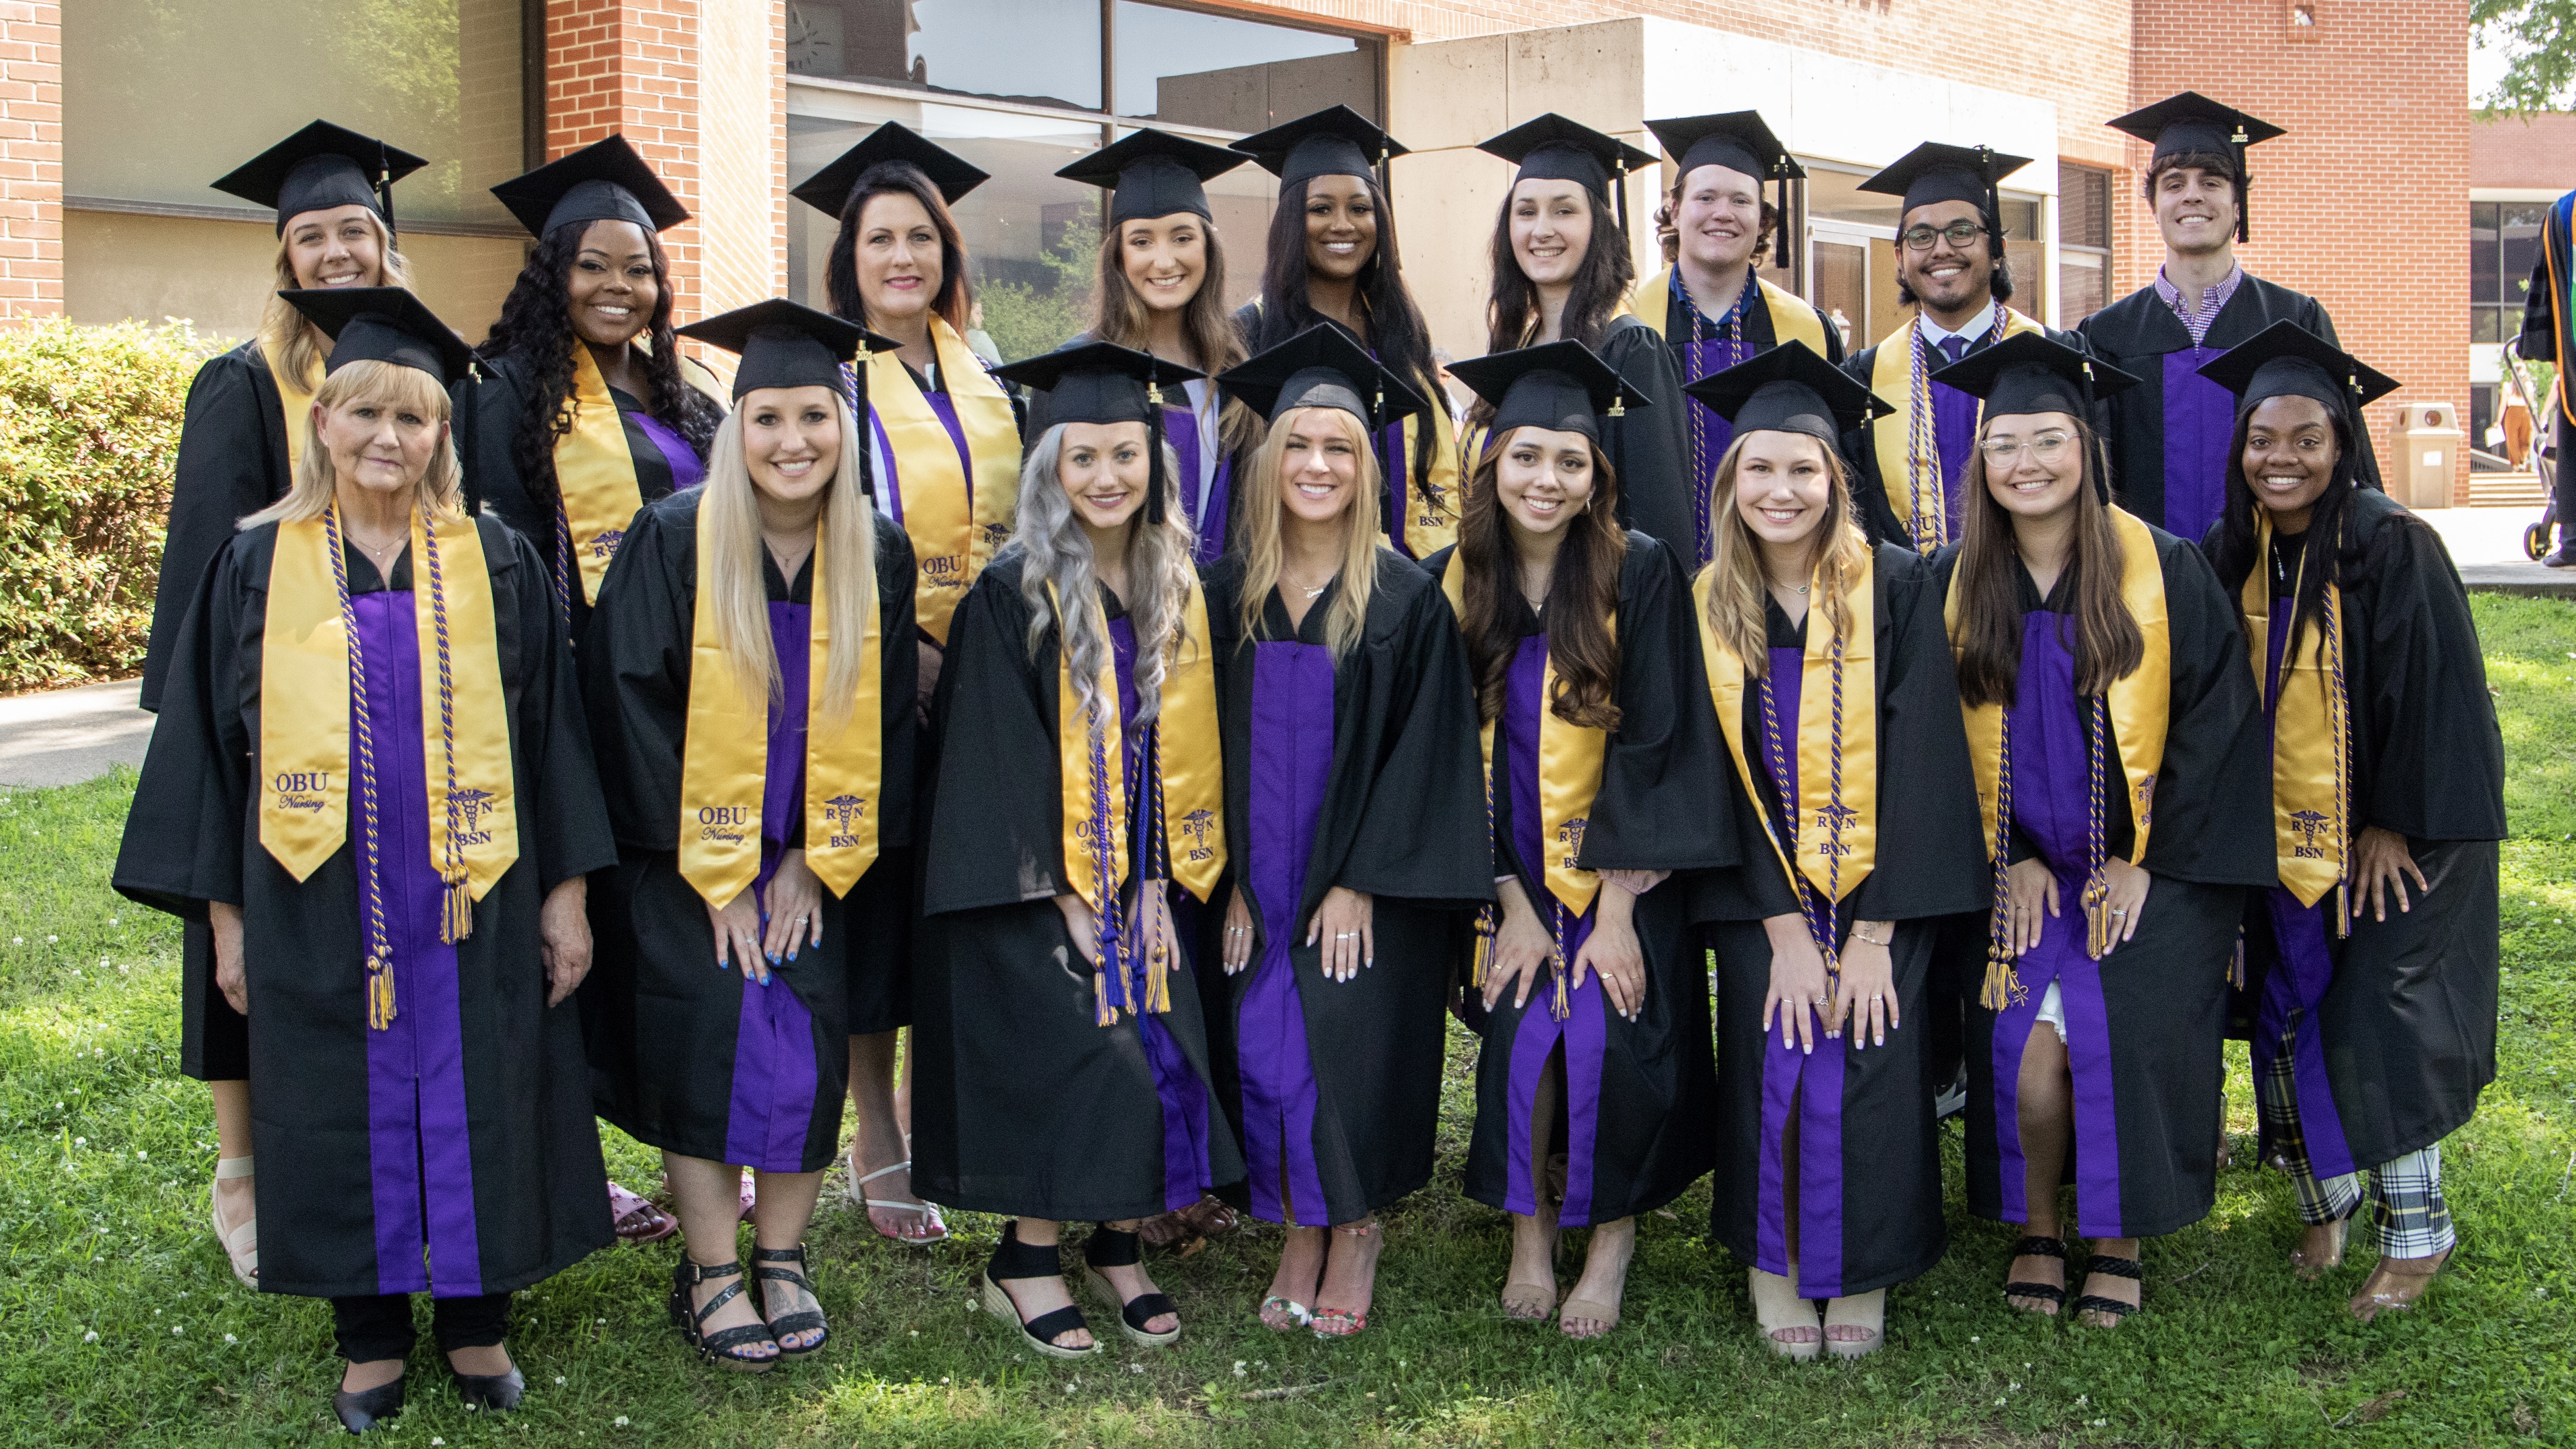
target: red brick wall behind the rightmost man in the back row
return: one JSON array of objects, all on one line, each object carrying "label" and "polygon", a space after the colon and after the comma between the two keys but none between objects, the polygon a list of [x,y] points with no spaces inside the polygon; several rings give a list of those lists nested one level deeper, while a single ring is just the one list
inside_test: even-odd
[{"label": "red brick wall behind the rightmost man in the back row", "polygon": [[[2344,345],[2406,383],[2370,409],[2385,456],[2401,404],[2468,417],[2468,3],[2313,0],[2313,26],[2290,26],[2290,3],[2138,0],[2133,95],[2200,90],[2290,131],[2249,157],[2239,257],[2318,296]],[[2164,257],[2136,178],[2120,180],[2120,291]],[[2465,453],[2452,497],[2468,502]]]}]

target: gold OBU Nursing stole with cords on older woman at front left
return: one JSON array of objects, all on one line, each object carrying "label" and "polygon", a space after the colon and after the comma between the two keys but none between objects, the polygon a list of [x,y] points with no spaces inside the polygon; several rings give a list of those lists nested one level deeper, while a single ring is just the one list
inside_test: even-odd
[{"label": "gold OBU Nursing stole with cords on older woman at front left", "polygon": [[[350,718],[366,715],[353,669],[345,561],[337,507],[281,522],[268,564],[260,625],[260,844],[299,883],[350,842]],[[433,533],[425,533],[433,530]],[[461,512],[412,510],[412,620],[420,633],[420,739],[428,782],[430,862],[446,880],[440,939],[474,929],[471,901],[518,860],[518,803],[510,767],[510,713],[500,679],[492,574],[482,533]],[[363,661],[358,661],[363,667]],[[371,798],[397,775],[376,764],[361,731],[358,770]],[[381,816],[379,816],[381,818]],[[376,880],[392,849],[366,831],[358,862],[368,929],[368,1024],[394,1019],[394,978]]]}]

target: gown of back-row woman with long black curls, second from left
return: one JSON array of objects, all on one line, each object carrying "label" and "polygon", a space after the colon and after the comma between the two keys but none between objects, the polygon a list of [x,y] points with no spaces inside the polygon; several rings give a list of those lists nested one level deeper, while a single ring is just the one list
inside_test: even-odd
[{"label": "gown of back-row woman with long black curls, second from left", "polygon": [[[574,342],[577,347],[582,342]],[[536,543],[546,561],[546,577],[562,589],[572,610],[572,643],[590,631],[590,600],[582,592],[580,564],[569,556],[569,535],[556,517],[554,484],[528,479],[518,471],[518,420],[536,407],[533,365],[510,353],[482,360],[482,381],[456,383],[456,453],[466,471],[466,507],[489,512]],[[711,386],[706,368],[683,360],[683,373],[693,383]],[[706,481],[706,461],[667,422],[644,412],[644,401],[611,386],[618,404],[618,425],[626,432],[626,456],[634,461],[636,497],[654,502],[675,489],[693,489]],[[721,394],[714,394],[721,396]]]}]

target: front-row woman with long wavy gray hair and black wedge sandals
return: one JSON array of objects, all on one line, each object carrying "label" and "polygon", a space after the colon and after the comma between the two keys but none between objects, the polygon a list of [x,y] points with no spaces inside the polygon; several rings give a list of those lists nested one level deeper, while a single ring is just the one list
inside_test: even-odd
[{"label": "front-row woman with long wavy gray hair and black wedge sandals", "polygon": [[1054,422],[933,703],[912,1150],[930,1199],[1018,1217],[984,1307],[1079,1359],[1097,1343],[1056,1228],[1100,1225],[1092,1287],[1128,1338],[1170,1343],[1136,1223],[1244,1174],[1172,921],[1226,865],[1208,607],[1159,438],[1162,389],[1195,373],[1090,342],[1002,376]]}]

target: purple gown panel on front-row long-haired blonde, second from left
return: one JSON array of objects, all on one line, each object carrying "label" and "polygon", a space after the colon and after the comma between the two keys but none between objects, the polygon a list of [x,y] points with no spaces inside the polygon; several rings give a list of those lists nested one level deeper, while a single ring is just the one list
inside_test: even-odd
[{"label": "purple gown panel on front-row long-haired blonde, second from left", "polygon": [[[760,875],[752,896],[768,921],[768,891],[804,813],[806,700],[814,631],[809,605],[770,602],[770,646],[778,651],[781,690],[770,703],[768,764],[760,785]],[[734,973],[742,978],[742,973]],[[778,975],[768,986],[742,978],[742,1019],[734,1029],[734,1091],[724,1114],[724,1161],[755,1171],[804,1171],[806,1132],[814,1127],[814,1011]]]}]

